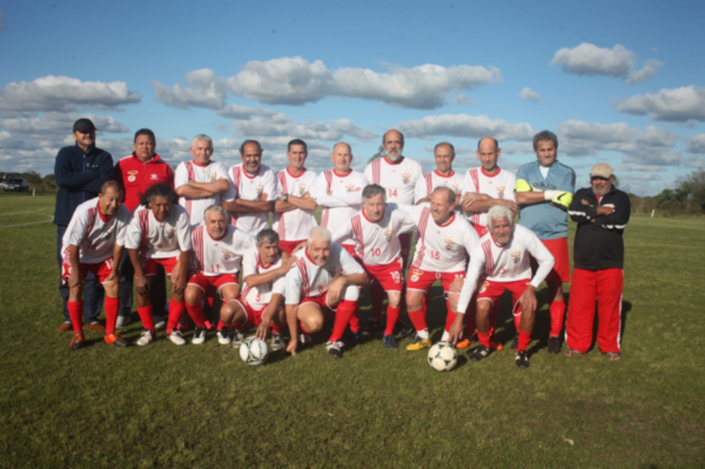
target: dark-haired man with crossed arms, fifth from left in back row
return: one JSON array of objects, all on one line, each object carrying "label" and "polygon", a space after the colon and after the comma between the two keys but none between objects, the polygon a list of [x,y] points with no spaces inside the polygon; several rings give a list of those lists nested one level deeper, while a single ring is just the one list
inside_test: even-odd
[{"label": "dark-haired man with crossed arms, fifth from left in back row", "polygon": [[286,152],[289,166],[276,173],[281,195],[274,204],[272,228],[279,235],[279,247],[289,254],[305,242],[309,231],[317,225],[317,204],[311,196],[317,176],[304,167],[307,156],[306,142],[291,140]]}]

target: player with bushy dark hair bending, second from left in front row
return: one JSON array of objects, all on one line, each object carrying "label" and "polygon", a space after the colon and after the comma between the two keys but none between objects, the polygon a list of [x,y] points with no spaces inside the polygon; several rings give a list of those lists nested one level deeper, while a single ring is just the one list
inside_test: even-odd
[{"label": "player with bushy dark hair bending, second from left in front row", "polygon": [[171,281],[171,300],[166,324],[168,339],[183,345],[185,340],[176,324],[185,309],[183,293],[188,280],[191,252],[191,228],[186,209],[178,205],[178,195],[170,185],[152,185],[142,195],[127,229],[125,248],[135,269],[137,312],[142,320],[138,346],[152,343],[156,336],[152,311],[152,281],[157,266],[162,265]]}]

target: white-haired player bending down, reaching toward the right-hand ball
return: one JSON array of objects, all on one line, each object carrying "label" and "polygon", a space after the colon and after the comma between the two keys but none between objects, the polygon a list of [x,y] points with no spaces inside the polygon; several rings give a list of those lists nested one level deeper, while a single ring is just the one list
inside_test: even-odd
[{"label": "white-haired player bending down, reaching toward the right-hand ball", "polygon": [[[527,346],[534,330],[537,307],[536,289],[553,268],[553,255],[534,234],[524,226],[515,226],[514,216],[507,207],[496,205],[487,212],[489,233],[479,241],[470,254],[465,283],[458,299],[458,315],[450,327],[449,341],[456,343],[462,335],[462,318],[480,276],[487,278],[477,294],[477,336],[480,345],[470,359],[479,361],[490,353],[490,311],[502,294],[512,292],[514,323],[519,331],[514,360],[518,367],[529,367]],[[539,264],[532,279],[531,257]]]}]

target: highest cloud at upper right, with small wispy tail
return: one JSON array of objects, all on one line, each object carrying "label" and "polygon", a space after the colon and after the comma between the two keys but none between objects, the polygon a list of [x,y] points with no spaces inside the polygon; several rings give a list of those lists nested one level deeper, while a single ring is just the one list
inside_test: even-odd
[{"label": "highest cloud at upper right, with small wispy tail", "polygon": [[642,70],[635,70],[635,54],[621,44],[612,49],[597,47],[583,42],[570,49],[563,47],[553,55],[551,65],[558,64],[565,73],[572,75],[603,75],[624,78],[627,83],[646,80],[663,65],[661,61],[650,59]]}]

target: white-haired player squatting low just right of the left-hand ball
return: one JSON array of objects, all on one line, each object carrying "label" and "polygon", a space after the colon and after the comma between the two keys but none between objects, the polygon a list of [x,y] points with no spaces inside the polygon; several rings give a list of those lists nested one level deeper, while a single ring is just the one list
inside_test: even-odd
[{"label": "white-haired player squatting low just right of the left-hand ball", "polygon": [[296,353],[298,322],[302,345],[311,343],[310,334],[321,330],[327,309],[336,313],[336,319],[326,351],[343,358],[341,339],[357,307],[358,287],[369,282],[367,274],[347,250],[331,243],[331,232],[322,226],[310,231],[306,248],[299,252],[296,267],[286,274],[286,322],[291,338],[286,351]]}]

